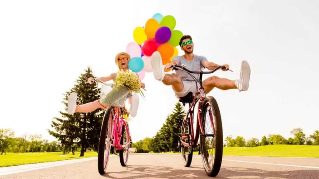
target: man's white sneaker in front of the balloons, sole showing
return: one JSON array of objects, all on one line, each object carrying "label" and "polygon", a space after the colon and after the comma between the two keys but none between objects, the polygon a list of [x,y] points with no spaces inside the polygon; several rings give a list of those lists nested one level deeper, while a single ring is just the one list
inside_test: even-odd
[{"label": "man's white sneaker in front of the balloons, sole showing", "polygon": [[153,68],[153,75],[156,80],[162,81],[165,73],[162,63],[162,57],[160,56],[159,52],[156,51],[151,56],[151,64]]}]

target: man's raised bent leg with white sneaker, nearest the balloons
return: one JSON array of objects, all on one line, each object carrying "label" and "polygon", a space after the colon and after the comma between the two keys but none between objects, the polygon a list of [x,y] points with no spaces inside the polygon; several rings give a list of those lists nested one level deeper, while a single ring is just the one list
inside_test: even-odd
[{"label": "man's raised bent leg with white sneaker, nearest the balloons", "polygon": [[153,75],[156,80],[163,82],[165,85],[169,86],[172,85],[172,88],[177,91],[181,92],[184,88],[183,82],[181,77],[176,74],[165,74],[162,58],[159,52],[154,52],[151,56],[151,64],[153,68]]}]

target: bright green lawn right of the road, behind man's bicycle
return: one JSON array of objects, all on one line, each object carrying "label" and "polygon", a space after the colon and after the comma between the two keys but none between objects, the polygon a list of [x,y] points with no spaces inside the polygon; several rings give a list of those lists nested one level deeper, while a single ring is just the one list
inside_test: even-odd
[{"label": "bright green lawn right of the road, behind man's bicycle", "polygon": [[[167,152],[166,154],[181,153]],[[197,155],[198,152],[193,152],[193,154]],[[319,146],[272,145],[259,147],[224,147],[223,155],[263,157],[319,157]]]}]

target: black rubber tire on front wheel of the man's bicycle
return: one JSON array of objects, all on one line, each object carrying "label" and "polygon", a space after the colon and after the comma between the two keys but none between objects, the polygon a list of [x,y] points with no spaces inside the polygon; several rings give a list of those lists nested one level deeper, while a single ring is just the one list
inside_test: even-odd
[{"label": "black rubber tire on front wheel of the man's bicycle", "polygon": [[[204,129],[204,126],[206,121],[206,111],[207,111],[208,105],[211,106],[213,123],[216,125],[215,132],[214,132],[215,143],[213,144],[213,147],[215,148],[215,154],[211,154],[214,156],[214,161],[212,162],[213,165],[211,167],[207,166],[207,164],[209,164],[209,161],[208,161],[209,151],[207,151],[206,149],[206,139],[204,139],[205,137],[202,134],[200,135],[200,148],[201,148],[202,162],[203,162],[206,174],[211,177],[215,177],[219,173],[221,163],[222,163],[222,158],[223,158],[223,126],[221,122],[221,116],[220,116],[220,111],[219,111],[219,106],[217,104],[217,101],[214,97],[208,96],[205,98],[203,102],[203,106],[202,106],[202,111],[203,111],[202,125],[203,125],[203,130],[205,134],[206,134],[206,131]],[[211,151],[213,151],[213,149],[211,149]]]}]

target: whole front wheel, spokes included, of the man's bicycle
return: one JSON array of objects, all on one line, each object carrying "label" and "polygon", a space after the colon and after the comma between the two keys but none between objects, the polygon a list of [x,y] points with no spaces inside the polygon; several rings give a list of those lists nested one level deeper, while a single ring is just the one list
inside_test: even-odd
[{"label": "whole front wheel, spokes included, of the man's bicycle", "polygon": [[223,158],[223,126],[217,101],[208,96],[202,106],[204,135],[200,135],[200,148],[207,175],[218,175]]}]

